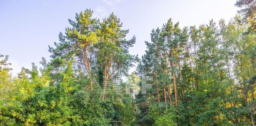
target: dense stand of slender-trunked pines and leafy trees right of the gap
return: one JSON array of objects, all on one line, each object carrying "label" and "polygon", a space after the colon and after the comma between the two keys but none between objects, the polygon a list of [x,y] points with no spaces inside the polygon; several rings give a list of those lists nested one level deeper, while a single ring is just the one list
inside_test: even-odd
[{"label": "dense stand of slender-trunked pines and leafy trees right of the gap", "polygon": [[170,19],[152,30],[137,67],[139,76],[154,78],[154,87],[136,96],[139,124],[254,125],[256,34],[248,21],[255,22],[255,3],[238,1],[245,15],[228,23],[180,28]]}]

